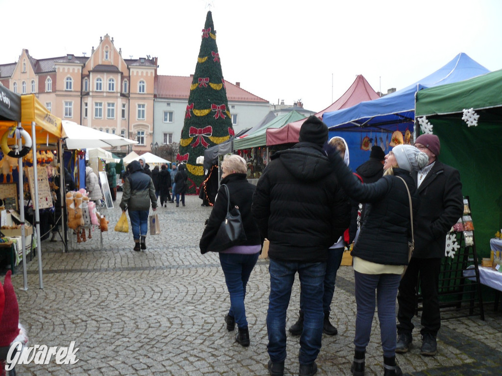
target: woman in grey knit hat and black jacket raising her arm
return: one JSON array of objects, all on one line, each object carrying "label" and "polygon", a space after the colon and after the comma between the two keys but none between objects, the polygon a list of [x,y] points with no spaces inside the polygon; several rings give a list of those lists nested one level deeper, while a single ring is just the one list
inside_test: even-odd
[{"label": "woman in grey knit hat and black jacket raising her arm", "polygon": [[350,371],[354,376],[364,375],[376,300],[384,375],[402,375],[396,364],[396,295],[404,266],[408,264],[408,242],[412,239],[408,190],[415,213],[419,205],[410,172],[424,167],[427,155],[412,145],[395,146],[385,157],[384,176],[364,184],[351,173],[335,149],[327,151],[345,192],[367,205],[367,215],[352,250],[357,313]]}]

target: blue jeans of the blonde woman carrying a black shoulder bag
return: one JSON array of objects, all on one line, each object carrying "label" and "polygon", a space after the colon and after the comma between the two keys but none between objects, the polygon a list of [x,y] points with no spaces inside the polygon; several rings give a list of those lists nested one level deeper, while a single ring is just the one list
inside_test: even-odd
[{"label": "blue jeans of the blonde woman carrying a black shoulder bag", "polygon": [[238,253],[220,253],[220,264],[225,274],[226,287],[230,293],[230,309],[228,315],[235,318],[237,327],[246,328],[246,310],[244,298],[249,275],[258,261],[259,253],[241,255]]}]

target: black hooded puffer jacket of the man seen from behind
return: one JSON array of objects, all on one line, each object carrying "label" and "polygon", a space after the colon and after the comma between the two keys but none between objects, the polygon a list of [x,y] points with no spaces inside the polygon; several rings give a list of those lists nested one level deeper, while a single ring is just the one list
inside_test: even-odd
[{"label": "black hooded puffer jacket of the man seen from behind", "polygon": [[252,212],[269,257],[323,262],[343,234],[350,206],[331,163],[318,145],[299,142],[279,151],[265,168],[253,197]]}]

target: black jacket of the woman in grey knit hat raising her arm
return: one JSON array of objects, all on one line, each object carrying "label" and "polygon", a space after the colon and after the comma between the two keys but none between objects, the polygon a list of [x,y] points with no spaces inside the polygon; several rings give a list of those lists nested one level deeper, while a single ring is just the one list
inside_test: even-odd
[{"label": "black jacket of the woman in grey knit hat raising her arm", "polygon": [[413,216],[419,206],[418,192],[410,173],[394,168],[394,175],[363,184],[343,163],[337,153],[330,156],[347,194],[359,202],[367,203],[366,215],[352,256],[384,265],[408,265],[408,241],[411,241],[411,219],[408,192],[410,190]]}]

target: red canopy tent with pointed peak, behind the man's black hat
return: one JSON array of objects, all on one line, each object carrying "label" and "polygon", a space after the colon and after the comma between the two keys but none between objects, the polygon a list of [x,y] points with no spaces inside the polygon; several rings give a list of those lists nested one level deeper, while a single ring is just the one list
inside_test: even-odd
[{"label": "red canopy tent with pointed peak, behind the man's black hat", "polygon": [[[376,98],[380,98],[379,95],[376,94],[366,79],[360,74],[357,75],[352,85],[350,85],[347,91],[340,98],[338,98],[328,108],[316,113],[315,116],[321,119],[322,114],[325,112],[352,107],[360,102],[370,101]],[[307,118],[288,123],[281,128],[267,129],[267,146],[298,142],[300,127],[306,119]]]}]

